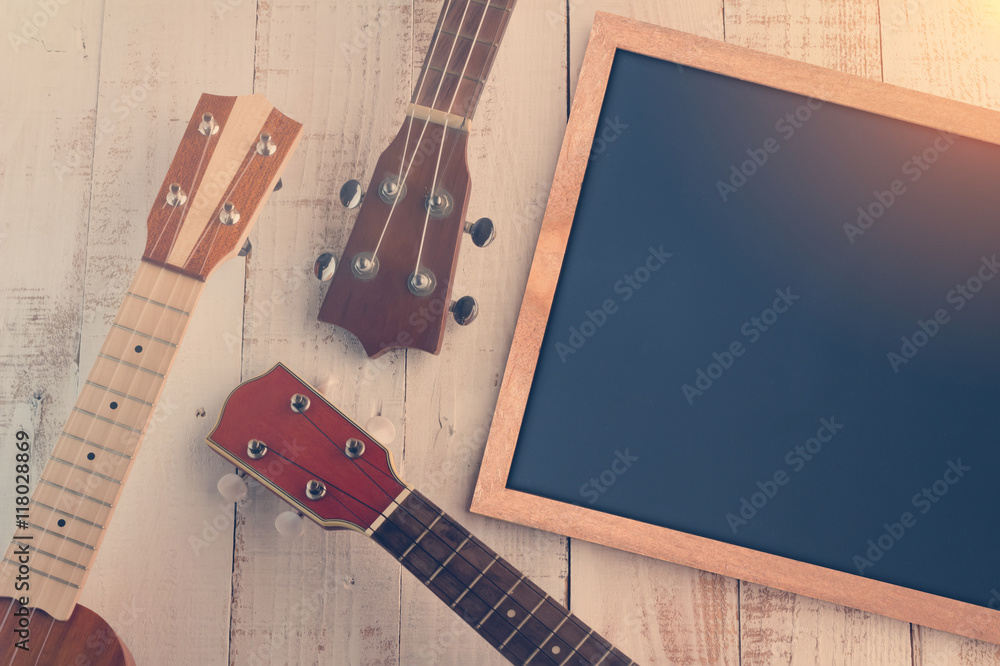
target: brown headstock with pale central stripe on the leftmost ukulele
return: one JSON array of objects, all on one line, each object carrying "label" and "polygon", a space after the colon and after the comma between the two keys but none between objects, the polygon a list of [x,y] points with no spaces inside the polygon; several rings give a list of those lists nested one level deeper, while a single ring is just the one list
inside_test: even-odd
[{"label": "brown headstock with pale central stripe on the leftmost ukulele", "polygon": [[301,136],[263,95],[202,95],[149,213],[143,258],[204,280],[236,256]]}]

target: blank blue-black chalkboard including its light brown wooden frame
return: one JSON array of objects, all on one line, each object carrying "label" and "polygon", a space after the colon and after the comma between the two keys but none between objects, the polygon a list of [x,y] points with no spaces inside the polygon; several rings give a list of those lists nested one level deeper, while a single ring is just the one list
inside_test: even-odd
[{"label": "blank blue-black chalkboard including its light brown wooden frame", "polygon": [[598,15],[479,513],[1000,642],[1000,114]]}]

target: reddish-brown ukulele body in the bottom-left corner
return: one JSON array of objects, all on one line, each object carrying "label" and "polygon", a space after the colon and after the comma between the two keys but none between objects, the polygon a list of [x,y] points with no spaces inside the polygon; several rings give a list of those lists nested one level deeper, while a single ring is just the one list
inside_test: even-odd
[{"label": "reddish-brown ukulele body in the bottom-left corner", "polygon": [[16,646],[23,606],[0,597],[0,608],[13,607],[0,624],[0,664],[9,666],[135,666],[132,654],[115,630],[94,611],[77,604],[66,621],[53,620],[44,611],[31,613],[29,650]]}]

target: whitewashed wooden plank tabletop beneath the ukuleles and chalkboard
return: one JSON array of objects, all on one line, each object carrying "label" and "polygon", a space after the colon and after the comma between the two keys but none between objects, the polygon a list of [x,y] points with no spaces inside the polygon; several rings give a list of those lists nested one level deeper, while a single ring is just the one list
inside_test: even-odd
[{"label": "whitewashed wooden plank tabletop beneath the ukuleles and chalkboard", "polygon": [[[346,243],[337,193],[398,128],[441,0],[4,0],[0,7],[0,516],[13,434],[38,470],[145,242],[201,92],[260,92],[306,124],[251,238],[209,281],[83,602],[145,664],[501,664],[356,534],[238,507],[203,443],[242,379],[282,360],[398,428],[402,474],[644,664],[1000,664],[1000,648],[470,515],[466,508],[596,9],[1000,109],[998,0],[521,0],[470,140],[457,292],[481,314],[440,356],[370,361],[316,321],[314,257]],[[568,61],[567,61],[568,57]],[[569,89],[567,85],[569,84]],[[13,509],[10,511],[13,514]],[[0,519],[0,538],[13,520]],[[984,553],[996,557],[996,553]]]}]

